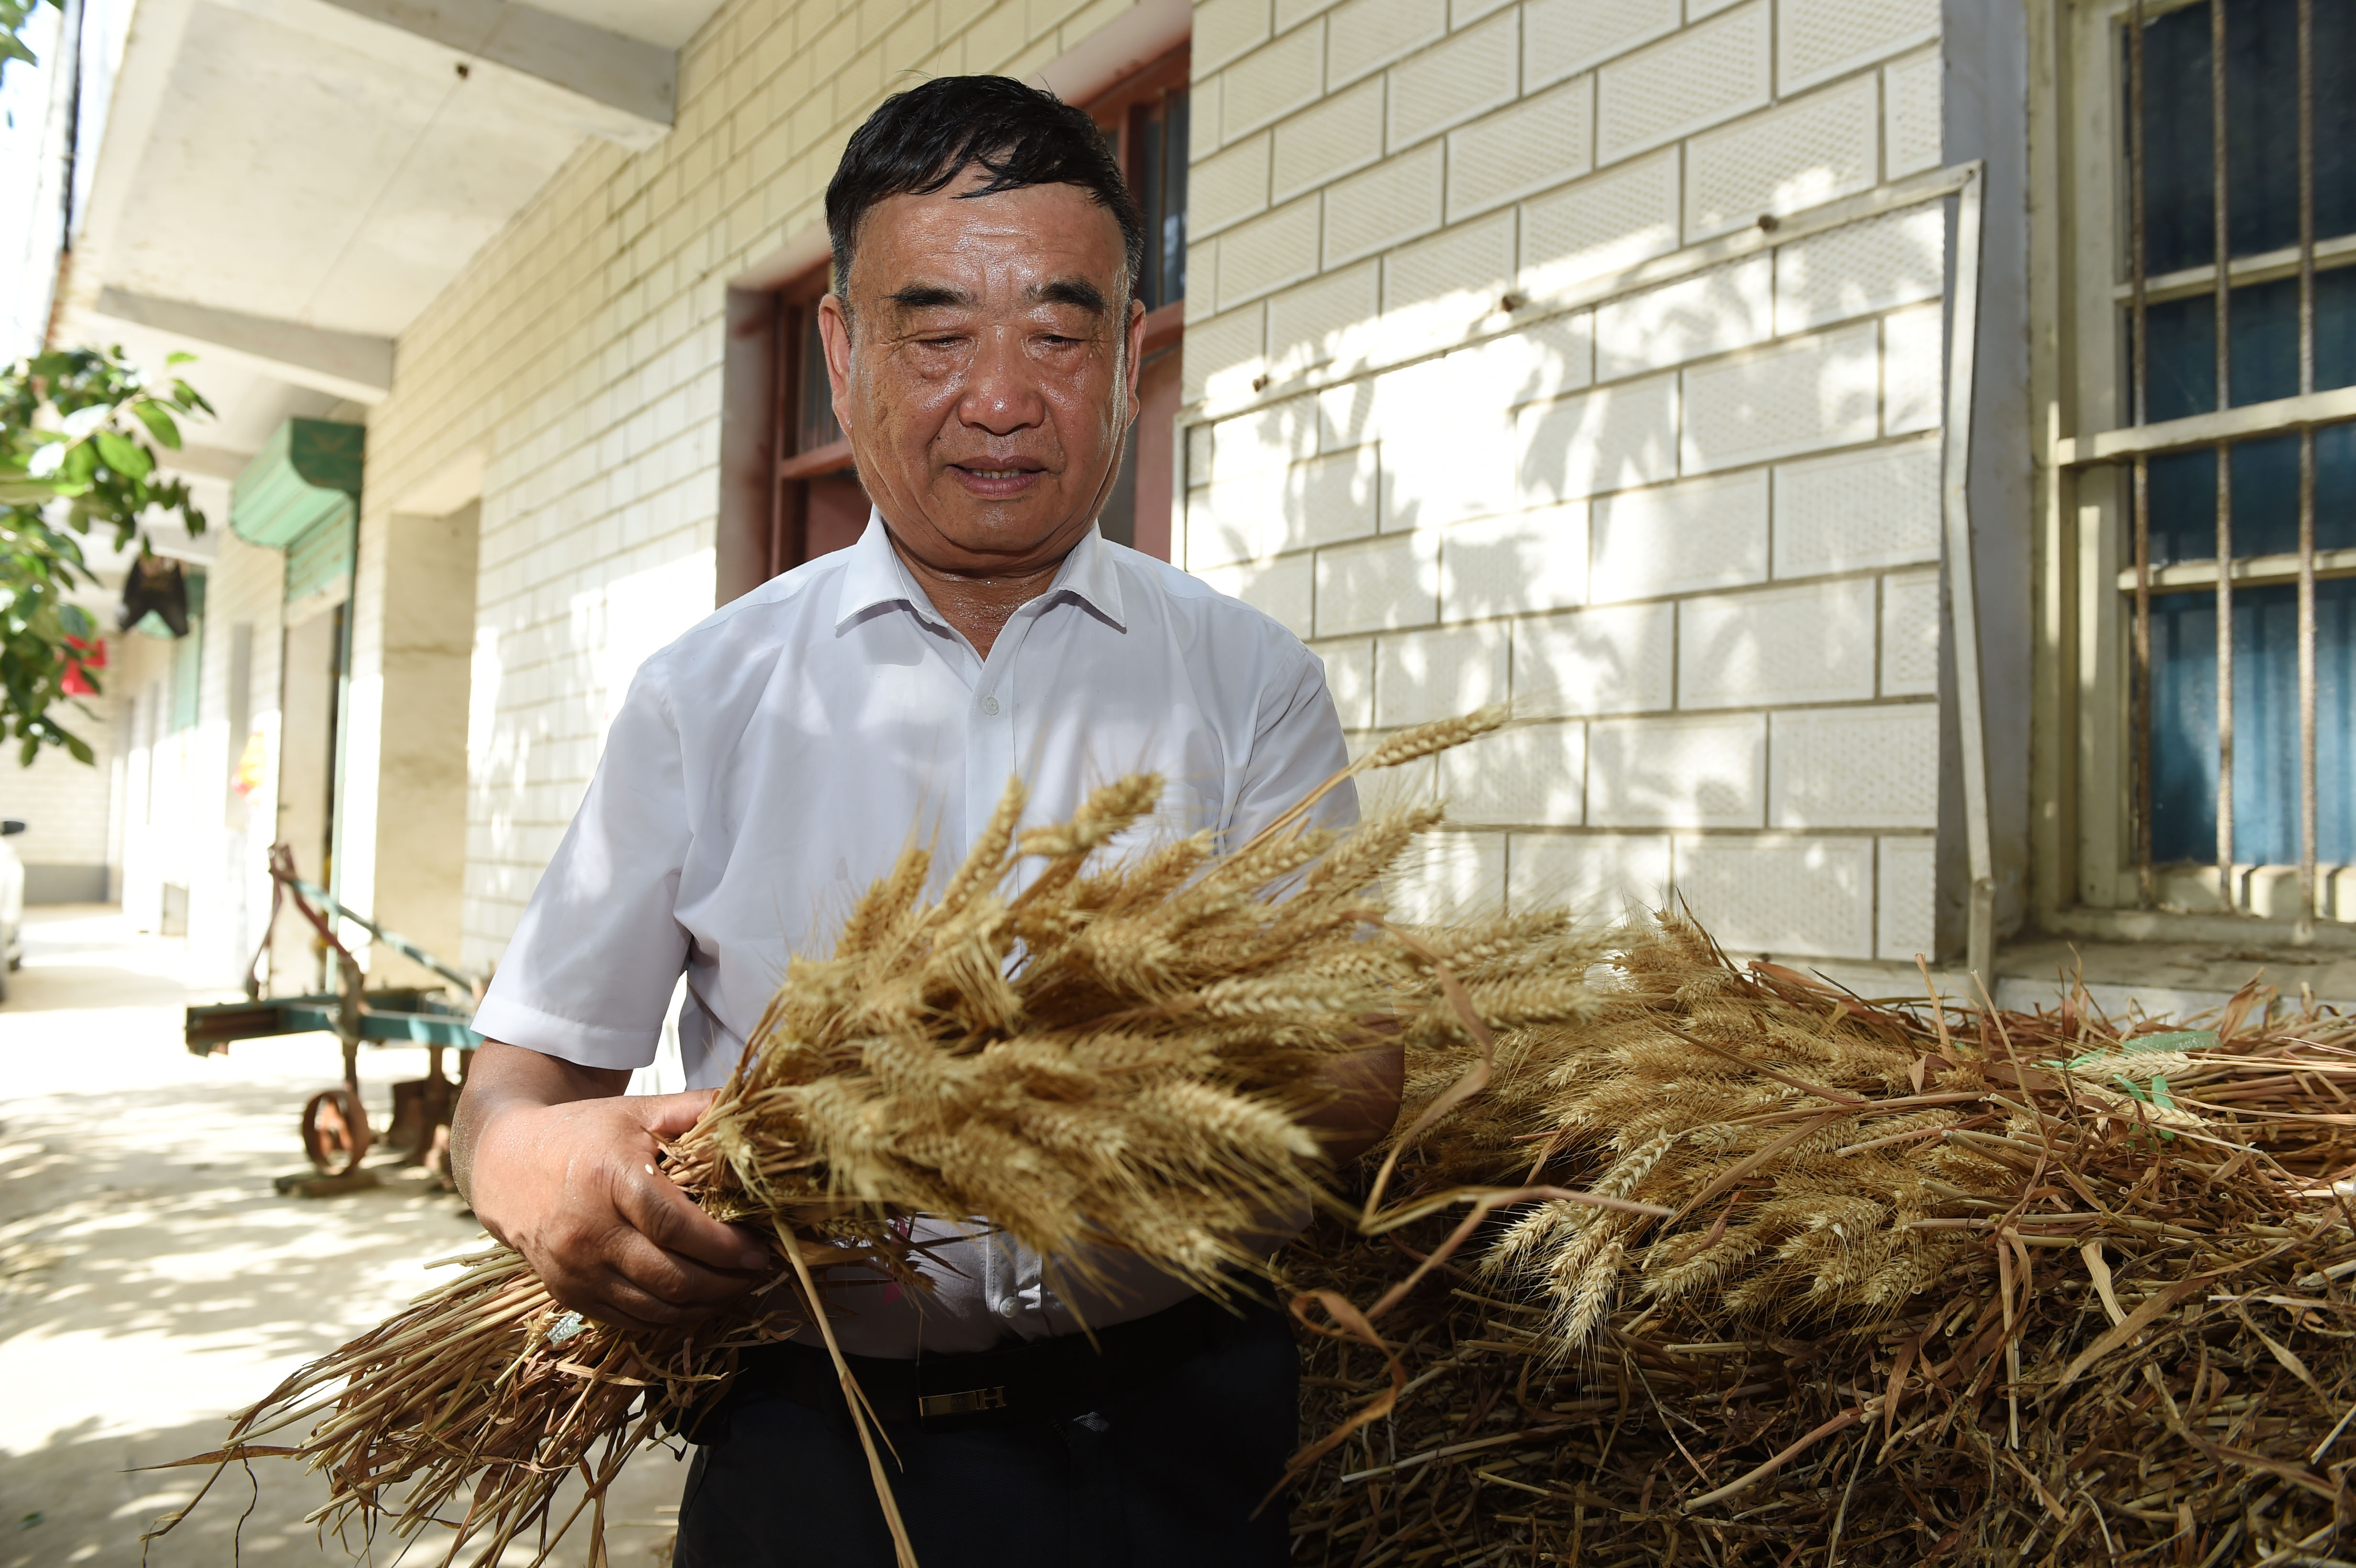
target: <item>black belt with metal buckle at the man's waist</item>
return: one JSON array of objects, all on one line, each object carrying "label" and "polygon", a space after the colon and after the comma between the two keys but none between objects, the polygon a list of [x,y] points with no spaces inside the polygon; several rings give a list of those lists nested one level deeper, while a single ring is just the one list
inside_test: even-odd
[{"label": "black belt with metal buckle at the man's waist", "polygon": [[[1070,1420],[1107,1398],[1140,1389],[1227,1337],[1237,1311],[1194,1295],[1176,1307],[1088,1335],[1055,1335],[968,1356],[843,1356],[874,1413],[886,1422],[921,1422],[926,1431],[1013,1427]],[[763,1344],[744,1351],[737,1389],[780,1394],[813,1410],[841,1410],[834,1358],[810,1344]],[[726,1406],[716,1410],[726,1420]],[[695,1429],[714,1441],[712,1422]]]}]

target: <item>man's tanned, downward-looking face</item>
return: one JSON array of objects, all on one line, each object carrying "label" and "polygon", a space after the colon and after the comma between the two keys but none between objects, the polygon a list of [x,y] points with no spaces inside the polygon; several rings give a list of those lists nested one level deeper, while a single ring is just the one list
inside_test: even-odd
[{"label": "man's tanned, downward-looking face", "polygon": [[[1088,532],[1136,419],[1145,308],[1121,226],[1079,186],[876,202],[820,304],[834,417],[900,546],[973,577]],[[1126,308],[1124,308],[1126,306]]]}]

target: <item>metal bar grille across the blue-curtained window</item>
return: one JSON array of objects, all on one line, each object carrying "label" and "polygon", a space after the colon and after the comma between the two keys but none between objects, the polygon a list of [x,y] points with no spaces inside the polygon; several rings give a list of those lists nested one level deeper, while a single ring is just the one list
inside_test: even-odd
[{"label": "metal bar grille across the blue-curtained window", "polygon": [[[2153,591],[2160,586],[2160,572],[2153,565],[2153,534],[2151,534],[2151,459],[2165,452],[2184,450],[2208,450],[2217,459],[2217,516],[2215,516],[2215,539],[2217,560],[2212,572],[2203,572],[2212,582],[2215,607],[2217,607],[2217,895],[2226,909],[2241,911],[2248,899],[2243,899],[2236,888],[2233,876],[2233,589],[2236,584],[2248,584],[2252,579],[2278,577],[2278,558],[2248,558],[2238,560],[2233,556],[2233,445],[2236,440],[2248,440],[2257,433],[2274,436],[2283,431],[2297,431],[2299,436],[2299,469],[2297,469],[2297,725],[2299,725],[2299,921],[2297,937],[2304,939],[2314,930],[2314,921],[2321,911],[2318,890],[2318,742],[2316,742],[2316,577],[2318,577],[2318,549],[2316,549],[2316,426],[2342,424],[2351,414],[2344,396],[2340,393],[2316,393],[2316,71],[2314,71],[2314,0],[2297,0],[2297,374],[2299,391],[2295,398],[2283,398],[2274,405],[2248,405],[2233,407],[2233,358],[2231,358],[2231,290],[2243,283],[2250,273],[2252,280],[2264,273],[2264,268],[2281,266],[2281,259],[2269,257],[2264,261],[2243,257],[2236,261],[2231,257],[2231,160],[2229,160],[2229,134],[2231,134],[2231,111],[2226,97],[2226,0],[2205,0],[2210,7],[2210,207],[2215,224],[2212,245],[2212,268],[2210,278],[2193,283],[2201,268],[2182,278],[2168,278],[2170,297],[2189,292],[2191,287],[2208,287],[2212,294],[2215,313],[2215,377],[2217,396],[2212,419],[2186,417],[2170,419],[2163,426],[2151,421],[2151,254],[2149,254],[2149,226],[2151,226],[2151,160],[2146,146],[2146,28],[2153,16],[2146,14],[2146,0],[2130,0],[2125,5],[2125,31],[2127,31],[2127,92],[2125,92],[2125,177],[2127,177],[2127,287],[2125,313],[2127,313],[2127,421],[2132,431],[2149,431],[2149,436],[2125,438],[2123,433],[2102,433],[2094,438],[2064,440],[2059,450],[2062,466],[2085,469],[2090,464],[2123,461],[2130,469],[2130,551],[2132,567],[2120,584],[2132,593],[2132,619],[2130,619],[2130,848],[2137,878],[2137,899],[2144,906],[2158,902],[2156,871],[2153,864]],[[2156,7],[2160,12],[2175,12],[2179,7],[2165,5]],[[2116,57],[2113,57],[2116,59]],[[2347,245],[2332,245],[2332,259],[2337,261]],[[2266,419],[2255,419],[2259,414],[2271,414]],[[2182,426],[2182,431],[2177,428]],[[2208,426],[2208,428],[2198,428]],[[2325,563],[2335,574],[2344,574],[2347,565],[2340,560],[2347,551],[2332,551],[2332,560]],[[2182,572],[2168,572],[2168,577],[2182,582]]]}]

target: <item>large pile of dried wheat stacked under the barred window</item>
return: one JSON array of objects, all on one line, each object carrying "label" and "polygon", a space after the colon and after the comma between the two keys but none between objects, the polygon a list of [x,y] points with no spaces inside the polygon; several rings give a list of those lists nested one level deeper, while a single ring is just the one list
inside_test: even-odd
[{"label": "large pile of dried wheat stacked under the barred window", "polygon": [[[1866,1003],[1673,918],[1619,972],[1404,1151],[1411,1224],[1291,1250],[1369,1304],[1301,1302],[1343,1436],[1296,1561],[2351,1556],[2356,1024],[2255,986],[2210,1029]],[[1414,1203],[1468,1182],[1673,1212]]]}]

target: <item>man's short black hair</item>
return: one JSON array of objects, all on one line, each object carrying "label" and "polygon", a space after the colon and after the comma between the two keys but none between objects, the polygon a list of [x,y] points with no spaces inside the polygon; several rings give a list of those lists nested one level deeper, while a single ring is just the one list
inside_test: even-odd
[{"label": "man's short black hair", "polygon": [[851,247],[869,207],[891,195],[933,195],[971,165],[990,179],[959,198],[1023,186],[1086,191],[1121,226],[1126,292],[1136,292],[1145,273],[1145,219],[1105,132],[1088,111],[1011,75],[938,75],[891,94],[851,132],[827,181],[834,292],[851,280]]}]

